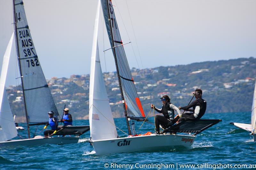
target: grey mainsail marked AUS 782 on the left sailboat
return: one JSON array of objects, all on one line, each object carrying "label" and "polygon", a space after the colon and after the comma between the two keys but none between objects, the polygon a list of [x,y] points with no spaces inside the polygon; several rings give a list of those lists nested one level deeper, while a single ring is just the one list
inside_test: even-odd
[{"label": "grey mainsail marked AUS 782 on the left sailboat", "polygon": [[36,54],[22,0],[14,1],[14,21],[28,122],[47,122],[49,111],[60,119]]}]

